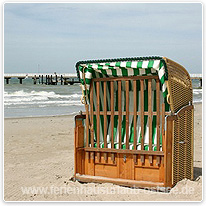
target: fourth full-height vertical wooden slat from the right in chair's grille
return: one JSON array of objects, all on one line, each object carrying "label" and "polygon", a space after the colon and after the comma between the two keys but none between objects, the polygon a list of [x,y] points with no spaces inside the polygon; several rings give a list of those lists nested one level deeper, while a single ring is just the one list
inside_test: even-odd
[{"label": "fourth full-height vertical wooden slat from the right in chair's grille", "polygon": [[134,149],[137,149],[137,81],[133,81],[134,97]]}]

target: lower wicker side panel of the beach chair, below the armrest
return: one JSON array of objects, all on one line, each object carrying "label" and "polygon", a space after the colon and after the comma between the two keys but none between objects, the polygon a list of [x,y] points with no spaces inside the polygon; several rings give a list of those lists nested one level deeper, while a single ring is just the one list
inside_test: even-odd
[{"label": "lower wicker side panel of the beach chair, below the armrest", "polygon": [[193,179],[193,110],[186,110],[174,121],[173,185]]}]

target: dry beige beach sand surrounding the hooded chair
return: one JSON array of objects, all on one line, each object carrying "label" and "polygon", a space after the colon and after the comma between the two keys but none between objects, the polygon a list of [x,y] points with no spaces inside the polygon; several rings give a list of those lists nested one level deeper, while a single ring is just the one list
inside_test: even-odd
[{"label": "dry beige beach sand surrounding the hooded chair", "polygon": [[[202,199],[202,104],[195,104],[195,180],[182,180],[170,193],[131,189],[113,184],[81,184],[70,181],[74,165],[73,119],[73,116],[5,119],[5,201],[200,201]],[[38,191],[23,194],[22,188],[25,187],[35,187]],[[43,194],[40,194],[40,189],[44,189]],[[107,192],[109,194],[105,194]]]}]

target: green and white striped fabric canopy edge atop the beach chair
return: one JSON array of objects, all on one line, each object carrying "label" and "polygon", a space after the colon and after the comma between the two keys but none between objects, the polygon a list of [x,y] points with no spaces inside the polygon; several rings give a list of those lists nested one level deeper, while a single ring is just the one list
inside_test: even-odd
[{"label": "green and white striped fabric canopy edge atop the beach chair", "polygon": [[76,64],[77,74],[81,82],[85,97],[95,73],[100,77],[129,77],[158,75],[161,83],[163,97],[168,94],[166,87],[167,67],[162,57],[136,57],[121,59],[104,59],[79,61]]}]

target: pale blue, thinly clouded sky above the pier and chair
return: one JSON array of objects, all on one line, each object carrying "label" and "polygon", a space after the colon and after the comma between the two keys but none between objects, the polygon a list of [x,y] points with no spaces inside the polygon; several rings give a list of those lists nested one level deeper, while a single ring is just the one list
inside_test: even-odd
[{"label": "pale blue, thinly clouded sky above the pier and chair", "polygon": [[202,73],[200,3],[4,5],[5,73],[75,73],[79,60],[151,55]]}]

